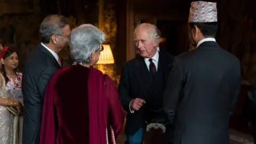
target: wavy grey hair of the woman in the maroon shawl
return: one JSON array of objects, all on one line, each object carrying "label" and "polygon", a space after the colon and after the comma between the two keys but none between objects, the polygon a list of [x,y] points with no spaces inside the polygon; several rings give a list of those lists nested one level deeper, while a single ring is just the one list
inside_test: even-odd
[{"label": "wavy grey hair of the woman in the maroon shawl", "polygon": [[92,52],[99,50],[104,41],[103,31],[91,24],[73,29],[69,41],[71,59],[75,62],[90,63]]}]

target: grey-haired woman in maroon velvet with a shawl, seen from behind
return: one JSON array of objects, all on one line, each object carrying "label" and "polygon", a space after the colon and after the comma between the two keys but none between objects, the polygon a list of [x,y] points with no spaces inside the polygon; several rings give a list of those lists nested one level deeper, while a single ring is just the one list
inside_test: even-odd
[{"label": "grey-haired woman in maroon velvet with a shawl, seen from behind", "polygon": [[115,143],[124,110],[114,82],[93,68],[105,34],[86,24],[71,31],[72,66],[51,78],[44,98],[40,144]]}]

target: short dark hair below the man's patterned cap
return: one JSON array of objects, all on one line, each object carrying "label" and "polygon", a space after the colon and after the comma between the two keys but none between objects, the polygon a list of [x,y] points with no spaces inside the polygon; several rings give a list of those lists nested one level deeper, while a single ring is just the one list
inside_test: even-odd
[{"label": "short dark hair below the man's patterned cap", "polygon": [[191,29],[197,26],[204,37],[215,37],[218,31],[218,22],[189,22]]}]

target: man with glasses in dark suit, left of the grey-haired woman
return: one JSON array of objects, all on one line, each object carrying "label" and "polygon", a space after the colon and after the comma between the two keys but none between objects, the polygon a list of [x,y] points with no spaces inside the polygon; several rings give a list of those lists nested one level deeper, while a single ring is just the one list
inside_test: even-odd
[{"label": "man with glasses in dark suit, left of the grey-haired woman", "polygon": [[29,55],[22,76],[24,99],[23,144],[38,144],[45,89],[61,68],[58,53],[67,46],[70,28],[62,15],[49,15],[41,23],[42,43]]}]

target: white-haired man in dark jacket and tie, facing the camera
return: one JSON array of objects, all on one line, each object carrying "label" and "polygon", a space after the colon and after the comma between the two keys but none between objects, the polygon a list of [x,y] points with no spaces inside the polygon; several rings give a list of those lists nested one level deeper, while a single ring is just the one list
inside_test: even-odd
[{"label": "white-haired man in dark jacket and tie, facing the camera", "polygon": [[[140,56],[125,63],[118,92],[127,112],[126,143],[142,143],[146,122],[168,121],[162,110],[165,79],[172,67],[173,56],[157,51],[157,27],[142,23],[134,31],[134,41]],[[169,127],[167,126],[167,129]],[[168,132],[169,130],[166,130]]]}]

